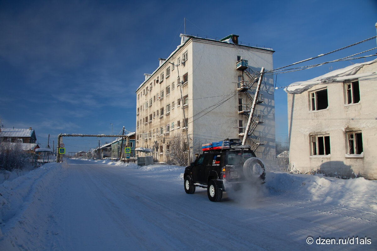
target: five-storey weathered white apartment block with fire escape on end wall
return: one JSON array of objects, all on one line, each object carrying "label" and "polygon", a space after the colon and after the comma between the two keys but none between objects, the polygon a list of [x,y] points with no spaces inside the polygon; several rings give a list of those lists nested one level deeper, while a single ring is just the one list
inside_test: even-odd
[{"label": "five-storey weathered white apartment block with fire escape on end wall", "polygon": [[[187,149],[186,130],[192,160],[203,143],[242,140],[261,68],[273,69],[272,49],[241,44],[238,35],[221,40],[180,37],[177,49],[167,59],[159,58],[159,67],[144,74],[136,90],[136,147],[152,148],[158,161],[167,160],[166,150],[176,136],[184,136]],[[271,160],[273,86],[272,75],[265,74],[246,142],[258,157]]]}]

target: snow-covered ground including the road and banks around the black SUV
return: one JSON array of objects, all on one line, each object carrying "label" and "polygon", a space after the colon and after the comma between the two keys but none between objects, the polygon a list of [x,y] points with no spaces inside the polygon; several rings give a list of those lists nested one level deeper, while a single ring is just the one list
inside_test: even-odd
[{"label": "snow-covered ground including the road and banks around the black SUV", "polygon": [[0,250],[377,249],[377,181],[268,172],[211,202],[183,170],[68,160],[5,181]]}]

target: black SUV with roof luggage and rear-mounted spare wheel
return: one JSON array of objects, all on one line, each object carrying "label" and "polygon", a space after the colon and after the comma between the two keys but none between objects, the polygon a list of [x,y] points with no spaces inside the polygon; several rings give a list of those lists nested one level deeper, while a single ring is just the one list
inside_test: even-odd
[{"label": "black SUV with roof luggage and rear-mounted spare wheel", "polygon": [[228,142],[227,146],[216,147],[217,149],[203,146],[203,153],[185,168],[186,193],[194,193],[195,187],[203,187],[207,188],[210,201],[220,201],[222,192],[230,187],[236,189],[242,183],[265,182],[265,165],[255,156],[250,146],[240,145],[238,139]]}]

